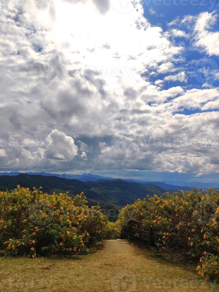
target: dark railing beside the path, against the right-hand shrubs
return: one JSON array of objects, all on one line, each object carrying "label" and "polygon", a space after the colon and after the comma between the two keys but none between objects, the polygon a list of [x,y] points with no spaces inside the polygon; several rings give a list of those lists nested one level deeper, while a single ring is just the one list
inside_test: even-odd
[{"label": "dark railing beside the path, against the right-hand shrubs", "polygon": [[154,232],[153,228],[145,230],[142,229],[143,222],[131,219],[128,224],[121,230],[121,239],[129,240],[142,240],[142,242],[147,243],[150,246],[155,246],[154,244]]}]

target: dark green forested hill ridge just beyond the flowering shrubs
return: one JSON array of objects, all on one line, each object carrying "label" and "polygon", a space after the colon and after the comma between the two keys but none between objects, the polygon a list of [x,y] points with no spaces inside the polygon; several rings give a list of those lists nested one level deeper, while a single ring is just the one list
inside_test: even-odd
[{"label": "dark green forested hill ridge just beyond the flowering shrubs", "polygon": [[122,179],[83,182],[76,179],[24,173],[16,176],[0,176],[0,190],[11,190],[18,184],[21,187],[29,187],[30,189],[43,187],[43,191],[47,193],[69,191],[69,195],[72,196],[83,191],[88,198],[89,204],[93,205],[100,202],[100,204],[125,206],[126,204],[132,204],[138,198],[145,198],[147,194],[160,196],[166,191],[154,184],[143,185]]}]

